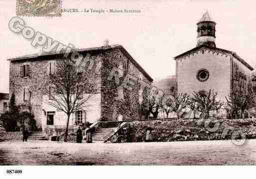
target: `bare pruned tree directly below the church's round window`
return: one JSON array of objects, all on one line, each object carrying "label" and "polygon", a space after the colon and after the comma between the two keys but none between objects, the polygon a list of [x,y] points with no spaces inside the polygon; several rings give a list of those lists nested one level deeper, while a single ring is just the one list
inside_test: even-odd
[{"label": "bare pruned tree directly below the church's round window", "polygon": [[218,92],[211,89],[209,91],[198,91],[193,93],[192,100],[198,104],[198,109],[202,112],[203,118],[209,117],[209,112],[215,110],[216,106],[220,105],[222,101],[217,100]]}]

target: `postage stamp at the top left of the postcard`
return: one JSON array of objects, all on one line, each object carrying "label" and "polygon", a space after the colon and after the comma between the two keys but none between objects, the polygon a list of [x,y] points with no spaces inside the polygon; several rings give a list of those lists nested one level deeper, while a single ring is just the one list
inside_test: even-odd
[{"label": "postage stamp at the top left of the postcard", "polygon": [[61,0],[17,0],[17,16],[61,16]]}]

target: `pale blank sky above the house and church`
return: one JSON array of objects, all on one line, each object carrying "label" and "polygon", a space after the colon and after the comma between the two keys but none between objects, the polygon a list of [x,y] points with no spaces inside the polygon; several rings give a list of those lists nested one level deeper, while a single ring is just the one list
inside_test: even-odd
[{"label": "pale blank sky above the house and church", "polygon": [[[27,26],[77,48],[121,44],[154,79],[175,75],[173,57],[196,47],[196,23],[208,10],[216,25],[216,46],[235,51],[256,66],[256,0],[62,0],[62,8],[137,9],[140,13],[63,12],[61,17],[21,17]],[[8,22],[16,0],[0,0],[0,92],[8,93],[8,58],[40,47]]]}]

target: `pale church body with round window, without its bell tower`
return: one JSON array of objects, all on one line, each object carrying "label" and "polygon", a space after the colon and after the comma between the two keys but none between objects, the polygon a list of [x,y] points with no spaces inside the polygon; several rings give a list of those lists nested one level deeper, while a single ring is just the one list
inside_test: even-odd
[{"label": "pale church body with round window, without its bell tower", "polygon": [[[178,93],[193,94],[194,91],[212,89],[219,93],[219,98],[226,101],[238,82],[243,83],[245,90],[251,84],[252,67],[243,64],[237,55],[222,49],[206,45],[193,52],[176,58]],[[209,78],[200,81],[197,73],[200,69],[209,71]]]}]

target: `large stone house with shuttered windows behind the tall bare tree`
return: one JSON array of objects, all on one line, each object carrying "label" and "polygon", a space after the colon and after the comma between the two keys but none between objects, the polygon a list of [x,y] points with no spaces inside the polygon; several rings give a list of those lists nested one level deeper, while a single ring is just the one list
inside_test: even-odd
[{"label": "large stone house with shuttered windows behind the tall bare tree", "polygon": [[[76,111],[70,117],[70,126],[84,122],[134,120],[140,118],[143,86],[153,79],[121,45],[104,45],[77,51],[90,60],[100,57],[100,85],[97,94],[89,101],[90,109]],[[89,55],[88,55],[89,54]],[[54,75],[55,61],[63,54],[28,55],[9,59],[9,93],[15,94],[16,103],[30,111],[37,129],[64,128],[66,115],[48,104],[50,95],[44,92],[49,75]],[[132,90],[116,86],[108,89],[108,76],[114,67],[124,70],[137,80]]]}]

